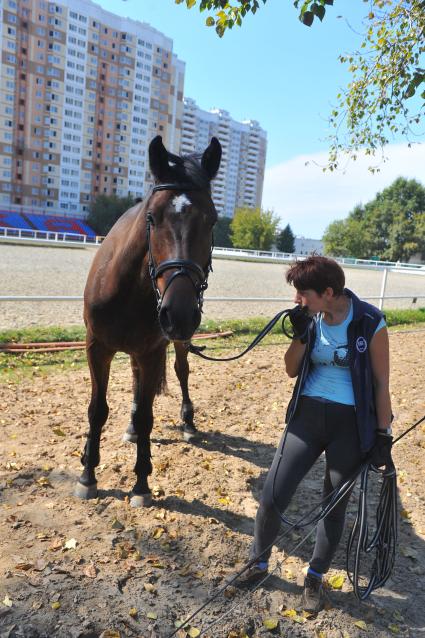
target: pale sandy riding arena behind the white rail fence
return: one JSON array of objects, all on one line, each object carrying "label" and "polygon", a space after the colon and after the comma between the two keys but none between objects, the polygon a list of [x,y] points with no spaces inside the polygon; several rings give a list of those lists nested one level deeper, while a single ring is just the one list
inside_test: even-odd
[{"label": "pale sandy riding arena behind the white rail fence", "polygon": [[[0,295],[82,295],[96,248],[43,248],[0,244]],[[287,302],[216,302],[208,297],[272,297],[292,299],[285,283],[287,266],[214,260],[214,272],[205,295],[206,319],[273,316]],[[347,286],[362,297],[379,296],[382,271],[347,268]],[[425,295],[425,276],[389,273],[386,294],[411,295],[388,300],[387,308],[415,307],[412,299]],[[377,302],[373,302],[377,303]],[[417,306],[425,305],[425,299]],[[31,325],[72,325],[82,322],[81,301],[3,302],[0,330]]]}]

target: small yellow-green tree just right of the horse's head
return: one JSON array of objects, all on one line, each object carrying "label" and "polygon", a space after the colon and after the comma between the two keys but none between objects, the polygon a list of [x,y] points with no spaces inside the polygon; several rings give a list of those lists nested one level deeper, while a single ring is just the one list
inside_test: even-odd
[{"label": "small yellow-green tree just right of the horse's head", "polygon": [[237,208],[232,219],[232,242],[237,248],[269,250],[279,219],[261,208]]}]

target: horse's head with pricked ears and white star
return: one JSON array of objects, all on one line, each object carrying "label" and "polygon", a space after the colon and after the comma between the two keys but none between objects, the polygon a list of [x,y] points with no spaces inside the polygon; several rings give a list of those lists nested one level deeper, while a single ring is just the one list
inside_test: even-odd
[{"label": "horse's head with pricked ears and white star", "polygon": [[215,137],[199,158],[169,153],[160,136],[149,146],[155,177],[146,207],[149,269],[161,329],[173,341],[189,340],[201,321],[217,221],[210,182],[220,159]]}]

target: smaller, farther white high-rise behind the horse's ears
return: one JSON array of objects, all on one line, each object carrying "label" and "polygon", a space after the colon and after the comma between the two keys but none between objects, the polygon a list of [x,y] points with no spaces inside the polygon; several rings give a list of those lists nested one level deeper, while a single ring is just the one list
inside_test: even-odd
[{"label": "smaller, farther white high-rise behind the horse's ears", "polygon": [[233,217],[235,208],[261,206],[267,134],[255,120],[237,122],[227,111],[200,109],[184,99],[181,152],[201,152],[215,135],[223,147],[220,170],[213,182],[220,215]]}]

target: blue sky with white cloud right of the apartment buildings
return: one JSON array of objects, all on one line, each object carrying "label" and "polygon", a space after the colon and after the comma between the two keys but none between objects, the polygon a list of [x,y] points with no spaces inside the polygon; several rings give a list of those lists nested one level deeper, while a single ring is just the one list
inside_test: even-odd
[{"label": "blue sky with white cloud right of the apartment buildings", "polygon": [[425,149],[408,149],[400,139],[386,149],[387,161],[374,176],[364,157],[332,175],[322,171],[327,116],[349,80],[338,54],[361,42],[367,10],[361,0],[335,0],[323,23],[310,28],[299,22],[292,0],[267,0],[223,38],[205,26],[208,14],[174,0],[98,4],[173,39],[174,52],[186,63],[185,96],[198,106],[258,120],[268,138],[263,208],[272,208],[296,235],[320,238],[331,221],[400,175],[425,184]]}]

